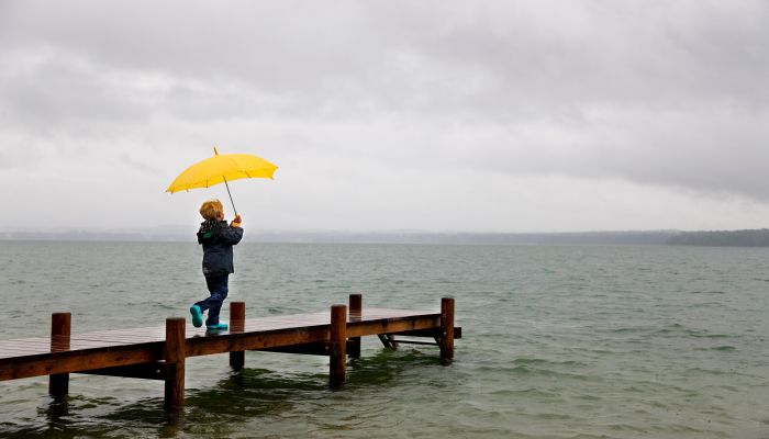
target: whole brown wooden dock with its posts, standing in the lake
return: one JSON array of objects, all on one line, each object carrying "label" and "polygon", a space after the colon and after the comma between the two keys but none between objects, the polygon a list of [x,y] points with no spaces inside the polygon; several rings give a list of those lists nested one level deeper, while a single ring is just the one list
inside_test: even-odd
[{"label": "whole brown wooden dock with its posts, standing in the lake", "polygon": [[360,337],[376,335],[391,348],[436,345],[444,360],[454,357],[454,339],[461,337],[461,328],[454,327],[454,299],[444,297],[439,313],[364,309],[360,294],[350,294],[349,307],[333,305],[331,313],[254,319],[245,318],[244,302],[232,302],[230,330],[216,333],[187,326],[183,317],[167,318],[165,328],[79,335],[71,334],[70,323],[69,313],[56,313],[49,338],[1,340],[0,381],[49,375],[49,393],[63,396],[68,393],[69,373],[163,380],[166,406],[174,408],[185,404],[185,360],[189,357],[229,352],[230,365],[239,370],[246,350],[328,356],[330,383],[339,386],[347,357],[360,356]]}]

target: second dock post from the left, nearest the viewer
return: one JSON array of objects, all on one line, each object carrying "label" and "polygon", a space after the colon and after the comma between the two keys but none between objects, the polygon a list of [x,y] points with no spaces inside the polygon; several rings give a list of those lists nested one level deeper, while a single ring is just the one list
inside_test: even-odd
[{"label": "second dock post from the left, nearest the viewer", "polygon": [[166,408],[185,405],[185,318],[166,318]]}]

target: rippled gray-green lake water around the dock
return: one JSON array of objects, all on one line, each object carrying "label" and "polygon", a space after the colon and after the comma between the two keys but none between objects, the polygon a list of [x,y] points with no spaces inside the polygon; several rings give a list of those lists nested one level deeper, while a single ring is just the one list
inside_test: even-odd
[{"label": "rippled gray-green lake water around the dock", "polygon": [[[248,317],[456,300],[455,361],[365,338],[341,391],[327,358],[247,352],[163,382],[0,382],[0,437],[769,438],[769,249],[243,243],[229,301]],[[2,337],[163,326],[205,294],[194,244],[0,241]],[[229,303],[227,301],[227,303]],[[229,315],[225,304],[223,315]]]}]

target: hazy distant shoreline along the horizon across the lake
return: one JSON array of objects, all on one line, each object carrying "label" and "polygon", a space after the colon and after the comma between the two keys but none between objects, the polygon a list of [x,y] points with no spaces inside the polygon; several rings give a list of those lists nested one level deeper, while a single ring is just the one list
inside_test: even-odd
[{"label": "hazy distant shoreline along the horizon across the lake", "polygon": [[[0,240],[185,243],[191,234],[160,232],[7,232]],[[425,233],[425,232],[256,232],[249,240],[286,244],[464,244],[464,245],[647,245],[769,247],[769,229],[626,230],[570,233]],[[193,237],[193,236],[192,236]]]}]

